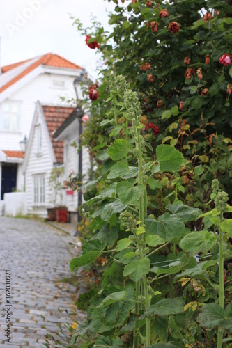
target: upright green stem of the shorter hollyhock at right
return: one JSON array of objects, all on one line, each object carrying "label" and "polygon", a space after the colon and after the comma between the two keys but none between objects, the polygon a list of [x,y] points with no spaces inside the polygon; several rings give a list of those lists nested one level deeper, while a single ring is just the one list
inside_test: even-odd
[{"label": "upright green stem of the shorter hollyhock at right", "polygon": [[[223,232],[221,222],[223,214],[220,215],[219,221],[219,305],[224,308],[224,256],[223,256]],[[222,348],[223,331],[218,329],[217,333],[217,348]]]}]

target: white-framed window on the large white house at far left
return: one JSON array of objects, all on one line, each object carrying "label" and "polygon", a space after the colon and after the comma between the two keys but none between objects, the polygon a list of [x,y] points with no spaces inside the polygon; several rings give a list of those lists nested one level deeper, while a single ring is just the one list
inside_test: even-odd
[{"label": "white-framed window on the large white house at far left", "polygon": [[10,131],[20,130],[20,103],[18,102],[3,102],[3,129]]}]

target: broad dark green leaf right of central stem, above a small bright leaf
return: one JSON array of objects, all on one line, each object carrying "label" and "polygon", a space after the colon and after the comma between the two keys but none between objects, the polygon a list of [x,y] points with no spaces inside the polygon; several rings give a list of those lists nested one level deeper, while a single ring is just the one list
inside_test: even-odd
[{"label": "broad dark green leaf right of central stem, above a small bright leaf", "polygon": [[172,239],[180,239],[185,232],[185,224],[180,217],[165,213],[155,219],[146,219],[146,230],[148,235],[158,235],[165,242]]}]

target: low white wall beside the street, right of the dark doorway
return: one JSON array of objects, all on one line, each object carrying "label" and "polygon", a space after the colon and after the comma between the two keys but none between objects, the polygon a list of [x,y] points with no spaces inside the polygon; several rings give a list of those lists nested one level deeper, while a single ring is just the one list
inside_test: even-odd
[{"label": "low white wall beside the street, right of the dark doorway", "polygon": [[4,194],[4,215],[26,215],[26,193],[14,192]]}]

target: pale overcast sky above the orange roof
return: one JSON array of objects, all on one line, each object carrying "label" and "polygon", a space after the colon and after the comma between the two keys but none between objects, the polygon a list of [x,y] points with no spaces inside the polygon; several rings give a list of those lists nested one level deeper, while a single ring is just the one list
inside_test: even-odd
[{"label": "pale overcast sky above the orange roof", "polygon": [[70,15],[90,26],[91,13],[109,30],[107,0],[0,0],[1,65],[52,52],[86,68],[96,77],[98,55],[72,26]]}]

